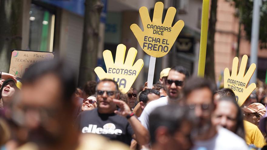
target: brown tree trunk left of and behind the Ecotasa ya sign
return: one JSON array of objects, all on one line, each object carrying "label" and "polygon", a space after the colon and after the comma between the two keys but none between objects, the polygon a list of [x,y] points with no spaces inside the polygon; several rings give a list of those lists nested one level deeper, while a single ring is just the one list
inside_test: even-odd
[{"label": "brown tree trunk left of and behind the Ecotasa ya sign", "polygon": [[101,0],[86,0],[83,26],[83,45],[79,71],[79,86],[88,80],[95,80],[94,68],[97,63]]}]

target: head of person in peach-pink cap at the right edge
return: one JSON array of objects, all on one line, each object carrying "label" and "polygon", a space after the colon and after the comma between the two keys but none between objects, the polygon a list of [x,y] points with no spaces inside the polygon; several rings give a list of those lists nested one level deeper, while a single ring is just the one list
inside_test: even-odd
[{"label": "head of person in peach-pink cap at the right edge", "polygon": [[261,103],[253,103],[241,108],[244,111],[244,119],[254,125],[259,125],[260,118],[266,113],[266,108]]}]

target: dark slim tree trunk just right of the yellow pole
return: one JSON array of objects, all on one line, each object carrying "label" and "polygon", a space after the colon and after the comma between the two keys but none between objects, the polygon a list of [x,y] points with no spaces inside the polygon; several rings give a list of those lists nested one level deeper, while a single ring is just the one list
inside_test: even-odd
[{"label": "dark slim tree trunk just right of the yellow pole", "polygon": [[214,68],[214,36],[215,26],[217,21],[217,0],[211,1],[211,11],[208,26],[208,42],[207,42],[207,53],[205,63],[205,77],[215,82],[215,68]]}]

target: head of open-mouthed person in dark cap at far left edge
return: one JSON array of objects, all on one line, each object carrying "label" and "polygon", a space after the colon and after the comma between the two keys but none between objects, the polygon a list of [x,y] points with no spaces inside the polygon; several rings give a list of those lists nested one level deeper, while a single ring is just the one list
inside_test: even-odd
[{"label": "head of open-mouthed person in dark cap at far left edge", "polygon": [[15,91],[17,89],[20,89],[21,86],[22,83],[19,80],[14,81],[12,78],[8,78],[3,82],[2,87],[0,89],[0,109],[3,108],[3,105],[12,101],[15,95]]}]

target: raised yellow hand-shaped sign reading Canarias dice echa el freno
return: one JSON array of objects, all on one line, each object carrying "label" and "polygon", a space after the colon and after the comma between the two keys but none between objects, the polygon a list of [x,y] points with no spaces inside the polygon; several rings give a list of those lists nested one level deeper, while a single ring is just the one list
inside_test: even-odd
[{"label": "raised yellow hand-shaped sign reading Canarias dice echa el freno", "polygon": [[146,7],[139,9],[140,17],[144,26],[142,31],[137,24],[130,26],[141,48],[150,56],[163,57],[170,52],[177,36],[184,27],[184,22],[179,20],[172,27],[176,13],[174,7],[167,10],[164,22],[162,23],[163,3],[157,2],[154,8],[153,20],[151,22]]}]

